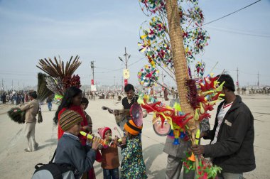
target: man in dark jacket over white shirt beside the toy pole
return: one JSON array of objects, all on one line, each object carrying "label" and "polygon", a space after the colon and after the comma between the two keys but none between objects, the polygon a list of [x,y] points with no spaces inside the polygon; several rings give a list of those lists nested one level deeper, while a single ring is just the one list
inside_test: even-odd
[{"label": "man in dark jacket over white shirt beside the toy pole", "polygon": [[222,168],[218,178],[243,178],[244,172],[256,168],[254,156],[254,118],[240,96],[234,94],[232,77],[218,75],[223,85],[225,100],[217,107],[213,130],[204,131],[200,135],[211,139],[209,145],[192,146],[195,155],[203,154],[212,158],[214,165]]}]

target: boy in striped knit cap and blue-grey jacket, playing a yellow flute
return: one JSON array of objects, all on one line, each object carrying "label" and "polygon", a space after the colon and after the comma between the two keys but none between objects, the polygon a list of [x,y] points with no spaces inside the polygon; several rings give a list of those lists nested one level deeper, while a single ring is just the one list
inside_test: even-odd
[{"label": "boy in striped knit cap and blue-grey jacket, playing a yellow flute", "polygon": [[59,124],[64,134],[58,141],[55,153],[55,163],[70,164],[76,168],[75,178],[87,175],[87,171],[93,167],[100,141],[99,138],[95,138],[92,148],[88,145],[82,146],[77,137],[82,128],[81,121],[82,116],[72,110],[67,109],[60,115]]}]

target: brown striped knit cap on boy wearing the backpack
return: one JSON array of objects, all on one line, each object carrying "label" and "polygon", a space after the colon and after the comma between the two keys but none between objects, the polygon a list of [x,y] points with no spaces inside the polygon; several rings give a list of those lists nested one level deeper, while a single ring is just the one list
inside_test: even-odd
[{"label": "brown striped knit cap on boy wearing the backpack", "polygon": [[72,126],[82,121],[82,116],[72,110],[65,110],[60,115],[59,125],[63,131],[68,131]]}]

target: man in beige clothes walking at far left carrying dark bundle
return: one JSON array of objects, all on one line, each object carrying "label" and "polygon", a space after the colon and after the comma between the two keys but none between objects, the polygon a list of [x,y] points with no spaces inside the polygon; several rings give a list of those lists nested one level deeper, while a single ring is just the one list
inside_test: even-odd
[{"label": "man in beige clothes walking at far left carrying dark bundle", "polygon": [[36,114],[38,114],[38,95],[36,92],[29,92],[30,102],[20,106],[22,111],[26,111],[26,139],[28,141],[28,148],[24,149],[26,152],[36,151],[38,143],[35,140]]}]

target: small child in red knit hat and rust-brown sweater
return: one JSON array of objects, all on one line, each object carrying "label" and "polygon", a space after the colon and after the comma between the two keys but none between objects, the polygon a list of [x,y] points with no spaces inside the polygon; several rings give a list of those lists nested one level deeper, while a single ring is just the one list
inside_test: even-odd
[{"label": "small child in red knit hat and rust-brown sweater", "polygon": [[99,128],[98,133],[102,139],[108,143],[107,148],[101,148],[103,178],[119,178],[119,157],[117,148],[117,139],[112,140],[112,130],[109,127]]}]

